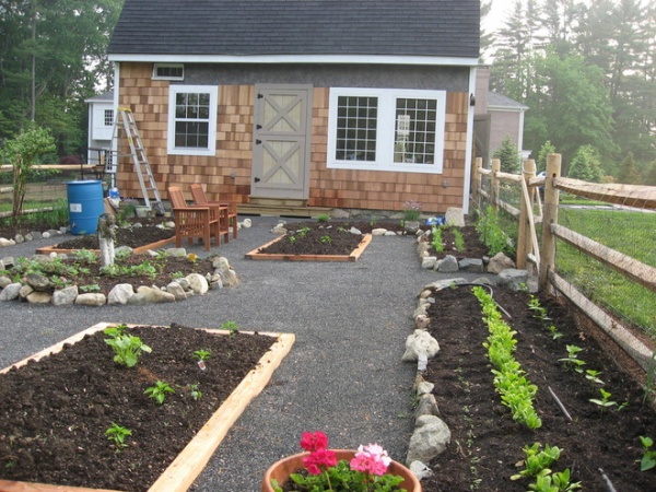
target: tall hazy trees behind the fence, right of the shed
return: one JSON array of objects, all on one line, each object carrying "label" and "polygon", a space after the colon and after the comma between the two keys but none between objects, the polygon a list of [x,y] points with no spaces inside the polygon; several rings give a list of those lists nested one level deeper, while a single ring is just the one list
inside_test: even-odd
[{"label": "tall hazy trees behind the fence, right of the shed", "polygon": [[539,171],[551,151],[572,177],[656,186],[653,1],[514,0],[481,49],[490,90],[529,107],[524,147]]}]

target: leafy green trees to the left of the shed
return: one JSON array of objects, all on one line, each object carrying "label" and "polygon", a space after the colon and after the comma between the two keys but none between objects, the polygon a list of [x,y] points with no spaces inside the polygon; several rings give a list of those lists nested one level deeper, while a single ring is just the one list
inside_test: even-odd
[{"label": "leafy green trees to the left of the shed", "polygon": [[124,0],[0,0],[0,147],[47,128],[57,155],[86,148],[84,99],[112,85],[109,35]]}]

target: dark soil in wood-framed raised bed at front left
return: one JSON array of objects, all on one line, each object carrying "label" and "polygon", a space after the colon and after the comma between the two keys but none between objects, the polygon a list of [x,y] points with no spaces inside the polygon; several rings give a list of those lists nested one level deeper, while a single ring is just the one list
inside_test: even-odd
[{"label": "dark soil in wood-framed raised bed at front left", "polygon": [[[98,332],[0,375],[1,479],[148,490],[274,342],[181,326],[129,332],[152,348],[132,368],[113,361]],[[211,352],[206,371],[197,350]],[[157,380],[175,390],[163,405],[144,394]],[[132,433],[120,450],[105,435],[113,423]]]}]

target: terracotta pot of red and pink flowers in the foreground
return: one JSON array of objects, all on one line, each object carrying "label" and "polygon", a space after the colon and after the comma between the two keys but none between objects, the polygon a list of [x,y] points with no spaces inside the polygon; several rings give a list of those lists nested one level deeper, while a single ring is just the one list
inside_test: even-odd
[{"label": "terracotta pot of red and pink flowers in the foreground", "polygon": [[301,447],[305,453],[274,462],[262,479],[262,492],[282,492],[294,482],[295,491],[378,490],[421,492],[414,475],[387,456],[377,444],[354,449],[328,449],[328,437],[320,431],[304,433]]}]

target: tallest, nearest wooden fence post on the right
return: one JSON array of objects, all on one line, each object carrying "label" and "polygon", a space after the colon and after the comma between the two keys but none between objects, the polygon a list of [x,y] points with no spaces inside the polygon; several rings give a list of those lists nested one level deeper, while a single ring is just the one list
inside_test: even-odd
[{"label": "tallest, nearest wooden fence post on the right", "polygon": [[540,272],[538,285],[540,292],[553,293],[549,283],[549,271],[555,268],[555,236],[551,234],[551,224],[558,224],[558,202],[560,191],[553,187],[553,178],[560,177],[561,155],[547,155],[547,175],[544,177],[544,209],[542,211],[542,250],[540,251]]}]

